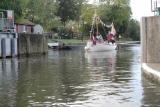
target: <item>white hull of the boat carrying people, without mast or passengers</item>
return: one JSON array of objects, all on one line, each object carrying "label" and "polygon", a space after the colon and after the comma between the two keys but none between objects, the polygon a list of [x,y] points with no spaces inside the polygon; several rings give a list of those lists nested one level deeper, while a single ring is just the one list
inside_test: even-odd
[{"label": "white hull of the boat carrying people, without mast or passengers", "polygon": [[87,45],[84,47],[85,51],[90,51],[90,52],[97,52],[97,51],[111,51],[111,50],[116,50],[117,45],[114,43],[96,43],[96,45],[93,45],[92,41],[88,41]]}]

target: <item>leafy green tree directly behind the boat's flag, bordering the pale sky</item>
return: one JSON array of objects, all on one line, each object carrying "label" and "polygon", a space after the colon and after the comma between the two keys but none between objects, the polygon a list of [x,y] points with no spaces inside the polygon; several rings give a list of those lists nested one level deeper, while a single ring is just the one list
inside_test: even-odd
[{"label": "leafy green tree directly behind the boat's flag, bordering the pale sky", "polygon": [[99,14],[104,22],[113,22],[117,33],[125,34],[131,17],[131,8],[128,0],[103,0]]}]

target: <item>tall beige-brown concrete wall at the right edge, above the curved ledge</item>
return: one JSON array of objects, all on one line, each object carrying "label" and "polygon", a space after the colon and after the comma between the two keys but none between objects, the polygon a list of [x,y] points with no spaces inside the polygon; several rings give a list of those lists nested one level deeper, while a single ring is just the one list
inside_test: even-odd
[{"label": "tall beige-brown concrete wall at the right edge, above the curved ledge", "polygon": [[142,63],[160,63],[160,16],[141,20]]}]

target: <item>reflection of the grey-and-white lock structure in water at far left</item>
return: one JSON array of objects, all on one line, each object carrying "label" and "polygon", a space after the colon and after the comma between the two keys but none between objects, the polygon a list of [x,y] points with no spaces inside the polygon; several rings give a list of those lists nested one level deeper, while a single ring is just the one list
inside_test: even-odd
[{"label": "reflection of the grey-and-white lock structure in water at far left", "polygon": [[16,103],[17,59],[0,60],[0,106],[11,107]]}]

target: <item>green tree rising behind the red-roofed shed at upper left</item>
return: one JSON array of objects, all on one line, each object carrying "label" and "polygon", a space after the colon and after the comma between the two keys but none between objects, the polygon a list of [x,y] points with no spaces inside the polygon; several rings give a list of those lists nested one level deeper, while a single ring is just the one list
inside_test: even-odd
[{"label": "green tree rising behind the red-roofed shed at upper left", "polygon": [[50,31],[55,25],[60,24],[60,18],[55,15],[56,12],[57,3],[54,0],[29,0],[24,9],[24,16]]}]

